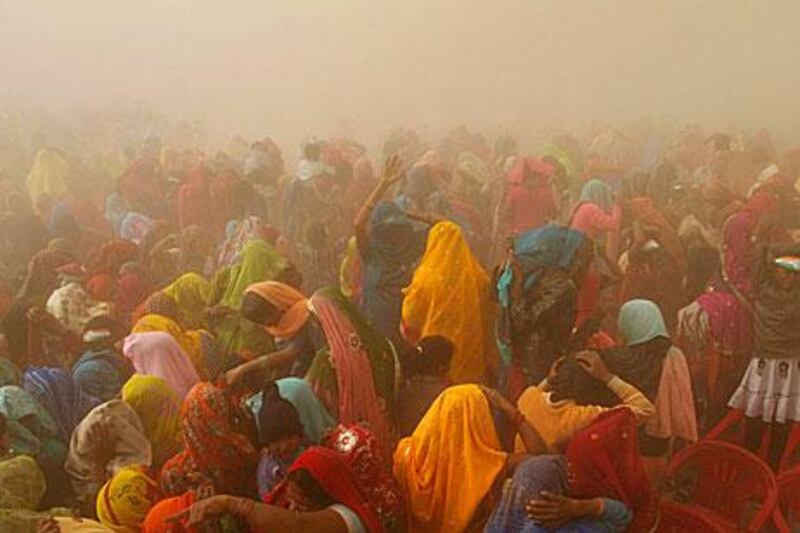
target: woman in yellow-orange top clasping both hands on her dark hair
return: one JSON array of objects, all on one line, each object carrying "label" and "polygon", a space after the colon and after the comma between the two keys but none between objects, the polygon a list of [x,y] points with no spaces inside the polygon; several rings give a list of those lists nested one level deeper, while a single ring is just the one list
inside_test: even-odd
[{"label": "woman in yellow-orange top clasping both hands on her dark hair", "polygon": [[639,390],[614,375],[597,352],[581,352],[559,359],[550,376],[528,387],[517,401],[520,412],[541,435],[541,448],[530,449],[518,438],[517,452],[525,449],[534,455],[559,453],[566,443],[602,413],[603,389],[630,409],[641,425],[655,413],[655,407]]}]

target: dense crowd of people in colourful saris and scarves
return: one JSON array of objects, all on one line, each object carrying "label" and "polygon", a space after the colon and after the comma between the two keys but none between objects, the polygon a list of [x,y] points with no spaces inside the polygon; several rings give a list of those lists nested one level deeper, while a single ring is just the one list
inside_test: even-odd
[{"label": "dense crowd of people in colourful saris and scarves", "polygon": [[800,422],[764,131],[94,146],[0,182],[3,531],[652,531],[728,409]]}]

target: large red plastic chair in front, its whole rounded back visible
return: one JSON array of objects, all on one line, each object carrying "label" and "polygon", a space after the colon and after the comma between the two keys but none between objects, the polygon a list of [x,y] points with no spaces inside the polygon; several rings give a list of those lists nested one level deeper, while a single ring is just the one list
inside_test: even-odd
[{"label": "large red plastic chair in front, its whole rounded back visible", "polygon": [[[678,452],[667,479],[694,468],[690,507],[728,530],[759,531],[772,517],[778,487],[769,466],[755,454],[722,441],[701,441]],[[753,506],[758,509],[744,526]]]}]

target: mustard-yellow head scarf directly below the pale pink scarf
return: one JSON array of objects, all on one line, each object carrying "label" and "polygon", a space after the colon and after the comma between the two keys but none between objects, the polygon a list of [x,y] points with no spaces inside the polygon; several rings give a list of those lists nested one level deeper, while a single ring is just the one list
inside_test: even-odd
[{"label": "mustard-yellow head scarf directly below the pale pink scarf", "polygon": [[164,464],[178,452],[181,399],[166,381],[156,376],[136,374],[122,387],[122,401],[139,416],[153,448],[155,465]]}]

